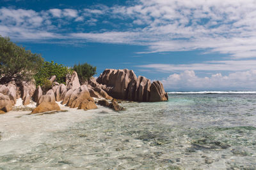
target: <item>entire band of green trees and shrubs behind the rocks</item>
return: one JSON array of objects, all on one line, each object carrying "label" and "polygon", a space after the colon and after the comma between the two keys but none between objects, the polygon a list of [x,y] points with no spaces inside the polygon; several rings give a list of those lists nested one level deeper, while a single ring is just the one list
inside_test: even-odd
[{"label": "entire band of green trees and shrubs behind the rocks", "polygon": [[72,70],[77,72],[81,83],[90,79],[96,74],[96,67],[90,64],[78,64],[73,68],[68,68],[62,64],[47,62],[36,53],[25,50],[22,46],[17,46],[10,41],[10,38],[0,36],[0,84],[5,84],[15,80],[17,84],[22,81],[29,81],[35,78],[36,86],[51,88],[49,78],[55,75],[58,83],[66,83],[67,74],[72,74]]}]

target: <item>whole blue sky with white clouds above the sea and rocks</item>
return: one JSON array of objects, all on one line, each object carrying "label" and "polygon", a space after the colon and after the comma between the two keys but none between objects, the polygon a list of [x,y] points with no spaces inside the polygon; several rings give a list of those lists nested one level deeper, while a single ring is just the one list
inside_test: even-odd
[{"label": "whole blue sky with white clouds above the sea and rocks", "polygon": [[65,66],[166,91],[256,90],[256,0],[1,0],[0,35]]}]

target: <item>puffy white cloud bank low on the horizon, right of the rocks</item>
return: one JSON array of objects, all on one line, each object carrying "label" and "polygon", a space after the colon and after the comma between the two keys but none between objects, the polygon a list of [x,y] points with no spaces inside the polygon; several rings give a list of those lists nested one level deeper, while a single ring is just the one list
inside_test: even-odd
[{"label": "puffy white cloud bank low on the horizon, right of the rocks", "polygon": [[256,90],[256,70],[237,71],[227,76],[217,73],[209,77],[199,77],[195,71],[186,70],[170,74],[161,81],[168,90]]}]

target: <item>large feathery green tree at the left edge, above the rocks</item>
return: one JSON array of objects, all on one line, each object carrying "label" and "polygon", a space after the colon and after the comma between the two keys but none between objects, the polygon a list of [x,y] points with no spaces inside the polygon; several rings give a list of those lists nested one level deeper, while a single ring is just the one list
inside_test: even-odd
[{"label": "large feathery green tree at the left edge, above the rocks", "polygon": [[41,55],[15,45],[8,37],[0,36],[0,84],[31,80],[43,61]]}]

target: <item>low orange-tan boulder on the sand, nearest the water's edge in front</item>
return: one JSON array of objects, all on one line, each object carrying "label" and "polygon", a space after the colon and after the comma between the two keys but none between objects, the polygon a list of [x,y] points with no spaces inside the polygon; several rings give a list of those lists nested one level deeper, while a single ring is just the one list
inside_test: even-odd
[{"label": "low orange-tan boulder on the sand, nearest the water's edge in front", "polygon": [[43,113],[45,111],[59,111],[60,106],[54,102],[43,101],[31,113]]}]

